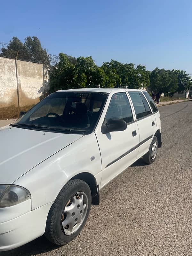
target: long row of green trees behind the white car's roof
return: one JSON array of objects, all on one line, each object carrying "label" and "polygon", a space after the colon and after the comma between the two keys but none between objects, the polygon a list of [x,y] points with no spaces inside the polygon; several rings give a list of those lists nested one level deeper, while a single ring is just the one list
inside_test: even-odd
[{"label": "long row of green trees behind the white car's roof", "polygon": [[98,67],[91,56],[75,58],[60,53],[60,61],[50,76],[50,92],[69,88],[118,87],[150,91],[174,92],[192,88],[191,77],[183,70],[155,68],[146,70],[143,65],[135,68],[133,63],[121,63],[116,60],[104,62]]}]

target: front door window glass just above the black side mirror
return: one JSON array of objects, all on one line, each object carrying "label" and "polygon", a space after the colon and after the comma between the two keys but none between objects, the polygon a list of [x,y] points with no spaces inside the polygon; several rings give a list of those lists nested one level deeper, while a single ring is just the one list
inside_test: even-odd
[{"label": "front door window glass just above the black side mirror", "polygon": [[131,106],[125,92],[113,95],[108,107],[106,119],[107,122],[110,119],[123,119],[127,124],[133,121]]}]

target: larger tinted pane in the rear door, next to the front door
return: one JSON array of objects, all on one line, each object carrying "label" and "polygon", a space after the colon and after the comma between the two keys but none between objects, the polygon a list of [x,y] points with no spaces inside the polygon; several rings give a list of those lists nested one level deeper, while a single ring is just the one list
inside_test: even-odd
[{"label": "larger tinted pane in the rear door, next to the front door", "polygon": [[140,93],[139,92],[129,92],[129,95],[132,99],[137,119],[147,116],[147,112],[145,110],[145,106],[144,106],[143,100],[140,96]]}]

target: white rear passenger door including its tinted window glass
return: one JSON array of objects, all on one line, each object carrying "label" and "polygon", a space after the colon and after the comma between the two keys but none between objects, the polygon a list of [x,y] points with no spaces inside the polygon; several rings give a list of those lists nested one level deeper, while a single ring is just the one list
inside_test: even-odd
[{"label": "white rear passenger door including its tinted window glass", "polygon": [[129,92],[134,107],[140,135],[138,158],[146,154],[156,132],[156,119],[142,92]]}]

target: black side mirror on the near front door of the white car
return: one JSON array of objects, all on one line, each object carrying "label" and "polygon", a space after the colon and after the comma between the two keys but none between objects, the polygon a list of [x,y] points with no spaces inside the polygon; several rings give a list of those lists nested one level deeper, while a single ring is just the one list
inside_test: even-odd
[{"label": "black side mirror on the near front door of the white car", "polygon": [[127,124],[122,119],[111,119],[108,121],[108,123],[105,119],[101,127],[101,132],[103,134],[108,132],[120,132],[126,130],[126,128]]}]

